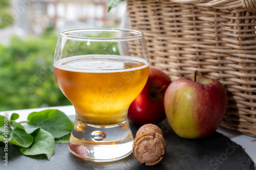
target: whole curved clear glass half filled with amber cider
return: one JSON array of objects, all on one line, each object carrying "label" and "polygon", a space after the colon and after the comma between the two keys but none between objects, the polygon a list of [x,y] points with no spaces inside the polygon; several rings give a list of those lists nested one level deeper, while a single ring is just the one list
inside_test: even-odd
[{"label": "whole curved clear glass half filled with amber cider", "polygon": [[79,29],[59,34],[54,75],[76,111],[71,153],[108,162],[132,152],[127,110],[148,72],[146,43],[139,31]]}]

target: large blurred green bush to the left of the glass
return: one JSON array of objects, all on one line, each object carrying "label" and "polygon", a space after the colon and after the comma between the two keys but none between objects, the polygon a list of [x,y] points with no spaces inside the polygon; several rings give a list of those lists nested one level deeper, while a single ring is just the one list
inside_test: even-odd
[{"label": "large blurred green bush to the left of the glass", "polygon": [[40,37],[13,37],[0,45],[0,110],[71,105],[53,74],[58,36],[48,31]]}]

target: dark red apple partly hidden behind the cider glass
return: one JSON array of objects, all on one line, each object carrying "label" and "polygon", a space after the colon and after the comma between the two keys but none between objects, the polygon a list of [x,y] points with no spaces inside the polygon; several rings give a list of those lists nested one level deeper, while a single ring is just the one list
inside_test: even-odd
[{"label": "dark red apple partly hidden behind the cider glass", "polygon": [[129,107],[128,118],[140,125],[161,122],[166,117],[163,98],[170,82],[164,72],[150,68],[145,87]]}]

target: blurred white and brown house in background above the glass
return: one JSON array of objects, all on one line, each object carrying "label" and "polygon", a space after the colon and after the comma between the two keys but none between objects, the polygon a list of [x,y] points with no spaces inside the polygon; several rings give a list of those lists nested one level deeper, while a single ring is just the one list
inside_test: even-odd
[{"label": "blurred white and brown house in background above the glass", "polygon": [[37,0],[27,11],[29,31],[40,34],[47,27],[56,30],[118,26],[125,12],[120,5],[108,12],[107,0]]}]

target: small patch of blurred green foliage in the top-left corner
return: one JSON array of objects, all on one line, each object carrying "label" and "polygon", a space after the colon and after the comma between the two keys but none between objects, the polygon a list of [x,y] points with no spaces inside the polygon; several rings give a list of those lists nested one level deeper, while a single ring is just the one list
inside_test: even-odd
[{"label": "small patch of blurred green foliage in the top-left corner", "polygon": [[1,0],[0,1],[0,28],[10,26],[14,19],[11,15],[11,1]]}]

